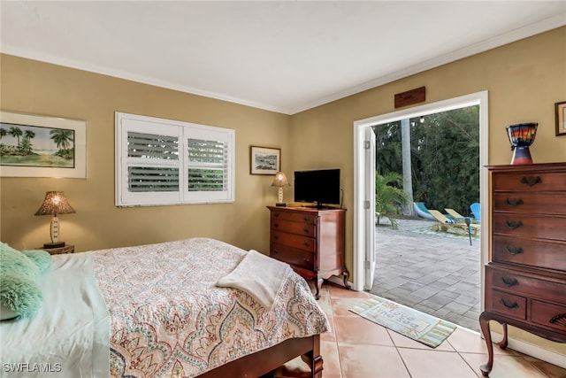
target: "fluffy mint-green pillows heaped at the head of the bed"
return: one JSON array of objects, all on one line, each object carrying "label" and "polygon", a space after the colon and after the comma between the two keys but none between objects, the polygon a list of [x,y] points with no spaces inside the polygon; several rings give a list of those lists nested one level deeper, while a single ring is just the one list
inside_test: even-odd
[{"label": "fluffy mint-green pillows heaped at the head of the bed", "polygon": [[42,305],[38,280],[40,272],[49,268],[50,261],[37,251],[29,256],[0,243],[0,320],[11,319],[14,313],[27,318]]}]

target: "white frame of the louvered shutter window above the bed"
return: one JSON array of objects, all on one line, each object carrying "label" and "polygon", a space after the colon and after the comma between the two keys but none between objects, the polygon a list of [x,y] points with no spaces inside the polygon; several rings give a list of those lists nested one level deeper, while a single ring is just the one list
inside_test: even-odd
[{"label": "white frame of the louvered shutter window above the bed", "polygon": [[[127,133],[139,132],[178,138],[178,159],[140,159],[128,157]],[[234,202],[235,194],[235,131],[230,128],[199,125],[179,120],[164,120],[124,112],[115,113],[116,189],[115,204],[119,207],[157,206],[168,204],[218,204]],[[226,185],[221,191],[188,190],[189,167],[187,140],[202,139],[226,143]],[[134,192],[128,190],[128,166],[179,168],[179,188],[176,191]]]}]

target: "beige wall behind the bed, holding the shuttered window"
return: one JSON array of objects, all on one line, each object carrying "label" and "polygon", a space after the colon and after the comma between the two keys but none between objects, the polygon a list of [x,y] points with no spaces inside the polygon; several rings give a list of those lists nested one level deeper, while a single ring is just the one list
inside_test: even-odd
[{"label": "beige wall behind the bed, holding the shuttered window", "polygon": [[[50,217],[35,217],[45,191],[64,190],[76,210],[59,216],[61,237],[78,251],[215,237],[241,248],[269,249],[267,204],[273,177],[249,174],[249,146],[282,149],[287,169],[289,116],[96,73],[2,55],[1,109],[86,120],[88,178],[1,179],[0,239],[31,249],[49,241]],[[114,206],[114,112],[130,112],[236,130],[236,201]]]}]

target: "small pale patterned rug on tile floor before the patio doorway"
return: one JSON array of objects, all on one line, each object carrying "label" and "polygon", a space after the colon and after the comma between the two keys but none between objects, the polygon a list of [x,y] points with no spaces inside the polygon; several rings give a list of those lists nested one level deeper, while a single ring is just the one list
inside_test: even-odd
[{"label": "small pale patterned rug on tile floor before the patio doorway", "polygon": [[432,348],[439,346],[456,328],[449,321],[377,296],[350,311]]}]

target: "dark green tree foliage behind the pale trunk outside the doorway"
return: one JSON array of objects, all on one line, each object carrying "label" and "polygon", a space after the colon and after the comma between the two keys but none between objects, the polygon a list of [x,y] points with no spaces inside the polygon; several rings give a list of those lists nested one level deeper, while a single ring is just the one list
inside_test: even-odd
[{"label": "dark green tree foliage behind the pale trunk outside the doorway", "polygon": [[[470,214],[479,202],[479,106],[410,120],[413,200]],[[373,127],[379,174],[402,173],[401,121]]]}]

